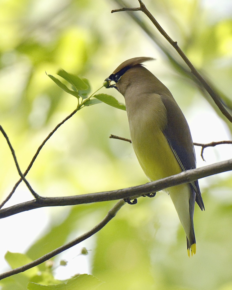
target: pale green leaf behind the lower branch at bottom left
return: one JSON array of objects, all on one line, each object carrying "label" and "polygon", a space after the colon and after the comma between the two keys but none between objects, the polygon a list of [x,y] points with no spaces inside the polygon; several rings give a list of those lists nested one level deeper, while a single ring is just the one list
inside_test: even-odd
[{"label": "pale green leaf behind the lower branch at bottom left", "polygon": [[[25,264],[32,262],[32,260],[27,255],[21,253],[11,253],[9,251],[6,253],[5,259],[12,269],[21,267]],[[39,271],[38,267],[33,267],[25,271],[24,274],[28,277],[31,277],[36,275],[38,271]]]}]

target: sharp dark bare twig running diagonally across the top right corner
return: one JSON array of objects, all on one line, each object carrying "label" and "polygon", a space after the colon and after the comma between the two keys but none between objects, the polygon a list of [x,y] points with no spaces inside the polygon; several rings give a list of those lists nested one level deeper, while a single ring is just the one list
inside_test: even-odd
[{"label": "sharp dark bare twig running diagonally across the top right corner", "polygon": [[153,15],[147,10],[146,6],[141,0],[138,0],[140,7],[136,8],[121,8],[121,9],[115,9],[112,10],[111,13],[114,12],[121,12],[121,11],[142,11],[146,16],[152,21],[152,23],[155,25],[155,27],[159,30],[159,32],[165,37],[165,39],[175,48],[175,50],[178,52],[178,54],[182,57],[184,62],[189,66],[191,69],[191,73],[201,82],[203,87],[206,89],[206,91],[209,93],[209,95],[212,97],[215,104],[218,106],[222,114],[230,121],[232,122],[232,116],[229,114],[229,112],[226,110],[224,105],[221,102],[220,96],[209,86],[209,84],[205,81],[205,79],[198,73],[198,71],[195,69],[191,61],[186,57],[184,52],[180,49],[180,47],[177,45],[177,41],[173,41],[171,37],[168,36],[168,34],[163,30],[163,28],[160,26],[160,24],[156,21],[156,19],[153,17]]}]

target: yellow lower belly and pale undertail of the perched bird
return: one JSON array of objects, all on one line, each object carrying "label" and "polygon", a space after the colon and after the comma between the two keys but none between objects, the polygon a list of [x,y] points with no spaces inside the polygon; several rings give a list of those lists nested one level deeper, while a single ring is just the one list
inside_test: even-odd
[{"label": "yellow lower belly and pale undertail of the perched bird", "polygon": [[[150,181],[182,172],[180,164],[161,130],[155,132],[131,132],[135,154],[144,173]],[[191,189],[188,184],[173,186],[165,190],[171,197],[187,237],[190,237],[191,219],[189,215],[189,198]]]}]

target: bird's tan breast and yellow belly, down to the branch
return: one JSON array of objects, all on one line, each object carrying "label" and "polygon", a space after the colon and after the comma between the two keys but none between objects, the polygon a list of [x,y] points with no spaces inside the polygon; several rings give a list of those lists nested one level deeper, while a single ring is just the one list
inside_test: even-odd
[{"label": "bird's tan breast and yellow belly, down to the branch", "polygon": [[167,116],[160,96],[151,94],[145,99],[140,95],[132,102],[125,100],[133,148],[148,179],[180,173],[180,165],[162,132]]}]

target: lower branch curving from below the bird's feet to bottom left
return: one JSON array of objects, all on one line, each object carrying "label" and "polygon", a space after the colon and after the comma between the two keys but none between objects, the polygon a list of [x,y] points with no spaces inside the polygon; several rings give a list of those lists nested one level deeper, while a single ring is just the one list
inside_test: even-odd
[{"label": "lower branch curving from below the bird's feet to bottom left", "polygon": [[7,271],[5,273],[0,274],[0,280],[4,279],[6,277],[10,277],[12,275],[24,272],[28,269],[31,269],[35,266],[38,266],[39,264],[51,259],[52,257],[54,257],[55,255],[58,255],[62,252],[64,252],[67,249],[70,249],[71,247],[79,244],[80,242],[88,239],[89,237],[91,237],[92,235],[94,235],[95,233],[97,233],[98,231],[100,231],[110,220],[112,220],[112,218],[115,217],[115,215],[117,214],[117,212],[119,211],[119,209],[122,208],[122,206],[124,206],[124,204],[126,204],[126,202],[124,202],[124,200],[119,200],[115,206],[110,209],[110,211],[107,213],[106,217],[99,222],[99,224],[97,224],[93,229],[91,229],[90,231],[88,231],[87,233],[84,233],[83,235],[79,236],[78,238],[72,240],[71,242],[51,251],[50,253],[47,253],[46,255],[40,257],[39,259],[30,262],[24,266],[21,266],[19,268]]}]

